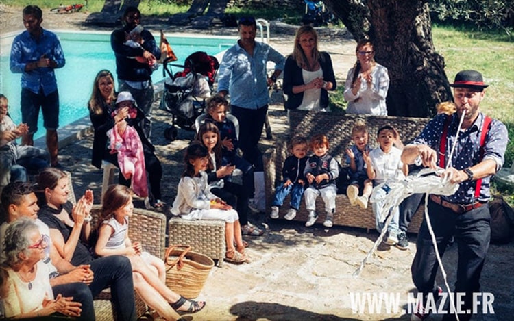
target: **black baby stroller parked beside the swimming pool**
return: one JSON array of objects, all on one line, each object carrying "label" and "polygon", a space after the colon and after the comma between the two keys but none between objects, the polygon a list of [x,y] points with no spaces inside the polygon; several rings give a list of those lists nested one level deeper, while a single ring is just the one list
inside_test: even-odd
[{"label": "black baby stroller parked beside the swimming pool", "polygon": [[[212,92],[219,62],[203,51],[189,55],[184,66],[169,62],[171,58],[162,63],[162,74],[169,79],[164,81],[160,109],[172,114],[171,127],[164,130],[164,137],[175,140],[178,136],[175,125],[187,131],[195,130],[195,120],[204,113],[205,100]],[[173,75],[171,66],[184,70]]]}]

